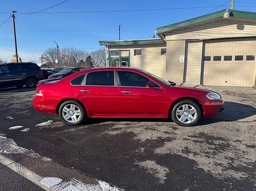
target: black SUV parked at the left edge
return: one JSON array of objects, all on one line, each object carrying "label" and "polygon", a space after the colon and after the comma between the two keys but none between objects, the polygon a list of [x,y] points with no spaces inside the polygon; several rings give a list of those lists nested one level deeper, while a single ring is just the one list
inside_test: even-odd
[{"label": "black SUV parked at the left edge", "polygon": [[0,88],[36,87],[39,80],[44,79],[37,64],[30,62],[0,64]]}]

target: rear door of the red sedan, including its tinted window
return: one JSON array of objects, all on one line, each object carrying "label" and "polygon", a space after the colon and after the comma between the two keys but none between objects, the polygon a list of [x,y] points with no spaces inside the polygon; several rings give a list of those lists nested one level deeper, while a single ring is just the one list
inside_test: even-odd
[{"label": "rear door of the red sedan, including its tinted window", "polygon": [[119,114],[119,90],[114,71],[87,73],[80,86],[80,95],[90,117],[111,117]]}]

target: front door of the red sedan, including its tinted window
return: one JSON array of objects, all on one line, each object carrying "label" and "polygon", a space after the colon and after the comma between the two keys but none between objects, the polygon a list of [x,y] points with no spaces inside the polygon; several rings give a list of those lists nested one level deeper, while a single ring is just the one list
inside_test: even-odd
[{"label": "front door of the red sedan, including its tinted window", "polygon": [[163,116],[165,112],[163,88],[157,84],[155,84],[155,88],[146,87],[151,80],[131,71],[118,71],[117,79],[119,81],[121,115]]}]

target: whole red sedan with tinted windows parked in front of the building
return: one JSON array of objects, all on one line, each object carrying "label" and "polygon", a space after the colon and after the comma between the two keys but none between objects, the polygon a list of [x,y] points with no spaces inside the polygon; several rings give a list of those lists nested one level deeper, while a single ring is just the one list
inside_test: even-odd
[{"label": "whole red sedan with tinted windows parked in front of the building", "polygon": [[87,69],[58,81],[39,82],[33,105],[70,125],[85,118],[171,117],[181,126],[193,126],[224,110],[224,100],[212,89],[176,85],[125,67]]}]

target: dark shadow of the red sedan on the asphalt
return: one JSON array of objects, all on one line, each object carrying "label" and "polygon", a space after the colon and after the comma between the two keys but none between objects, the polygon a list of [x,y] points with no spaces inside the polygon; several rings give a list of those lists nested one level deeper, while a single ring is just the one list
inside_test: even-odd
[{"label": "dark shadow of the red sedan on the asphalt", "polygon": [[[225,102],[225,109],[219,116],[202,118],[196,126],[212,124],[221,121],[236,121],[256,115],[256,108],[237,102]],[[254,119],[256,121],[256,118]],[[89,118],[83,124],[97,124],[101,122],[172,122],[170,118]],[[251,119],[250,119],[251,121]],[[171,125],[171,124],[170,124]]]}]

